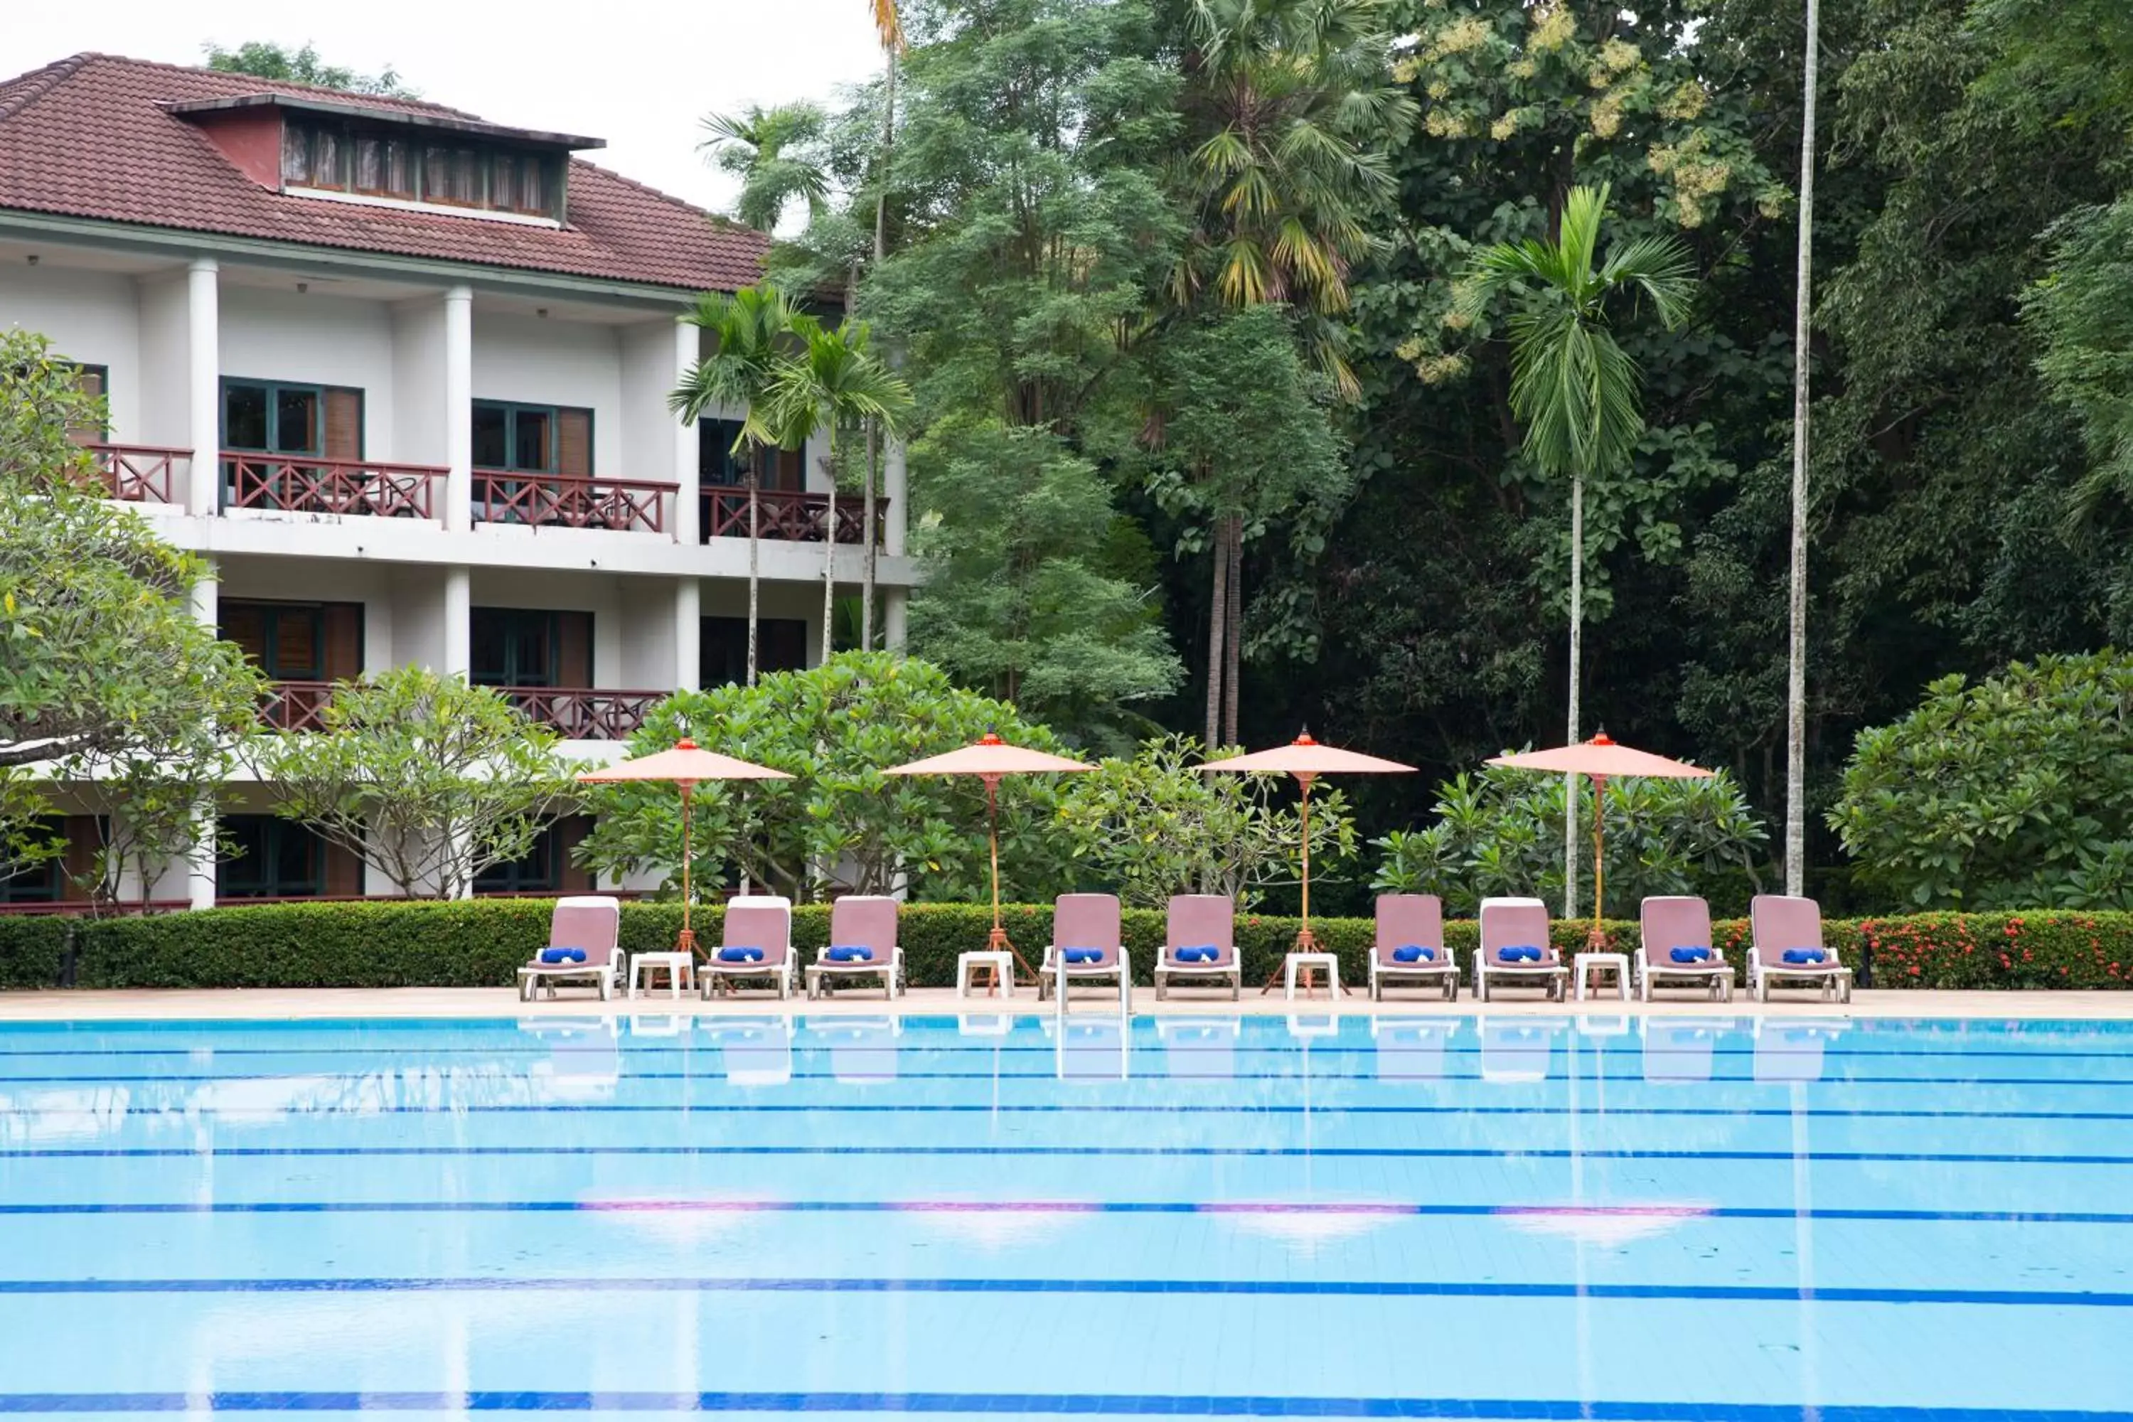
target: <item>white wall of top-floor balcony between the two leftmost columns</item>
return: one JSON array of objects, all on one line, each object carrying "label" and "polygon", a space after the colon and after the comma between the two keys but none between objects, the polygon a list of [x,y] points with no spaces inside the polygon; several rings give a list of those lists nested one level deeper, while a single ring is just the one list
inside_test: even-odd
[{"label": "white wall of top-floor balcony between the two leftmost columns", "polygon": [[363,390],[363,454],[392,458],[392,311],[380,301],[222,284],[222,375]]}]

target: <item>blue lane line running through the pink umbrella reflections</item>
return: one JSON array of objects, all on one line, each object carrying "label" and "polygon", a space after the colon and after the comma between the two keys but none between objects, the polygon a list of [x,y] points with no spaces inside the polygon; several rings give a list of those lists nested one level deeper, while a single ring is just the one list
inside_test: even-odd
[{"label": "blue lane line running through the pink umbrella reflections", "polygon": [[1875,1224],[2133,1224],[2124,1211],[1896,1209],[1824,1205],[1457,1205],[1401,1200],[49,1200],[0,1217],[62,1215],[1314,1215],[1365,1219],[1858,1219]]}]

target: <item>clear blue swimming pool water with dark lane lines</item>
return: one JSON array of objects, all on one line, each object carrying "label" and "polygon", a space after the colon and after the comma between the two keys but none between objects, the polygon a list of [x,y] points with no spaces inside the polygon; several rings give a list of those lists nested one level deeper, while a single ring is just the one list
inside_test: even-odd
[{"label": "clear blue swimming pool water with dark lane lines", "polygon": [[2133,1418],[2133,1030],[0,1028],[0,1411]]}]

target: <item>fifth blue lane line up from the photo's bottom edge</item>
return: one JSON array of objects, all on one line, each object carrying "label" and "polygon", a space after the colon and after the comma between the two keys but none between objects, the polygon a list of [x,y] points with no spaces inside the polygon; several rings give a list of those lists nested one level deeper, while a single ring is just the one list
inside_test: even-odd
[{"label": "fifth blue lane line up from the photo's bottom edge", "polygon": [[[1226,1077],[1175,1077],[1169,1081],[1226,1081]],[[1393,1083],[1395,1079],[1380,1079]],[[1399,1085],[1425,1085],[1427,1079],[1397,1079]],[[1664,1083],[1677,1085],[1677,1083]],[[1779,1085],[1779,1083],[1766,1083]],[[51,1111],[38,1106],[0,1106],[4,1117],[83,1115],[77,1109]],[[130,1115],[190,1119],[243,1121],[252,1117],[339,1117],[339,1115],[1416,1115],[1416,1117],[1459,1117],[1459,1115],[1574,1115],[1587,1121],[1604,1121],[1617,1115],[1638,1117],[1828,1117],[1828,1119],[1875,1119],[1875,1121],[2133,1121],[2133,1111],[1896,1111],[1879,1106],[1305,1106],[1239,1102],[1233,1106],[1207,1104],[1156,1104],[1124,1102],[1105,1106],[1096,1102],[712,1102],[712,1104],[625,1104],[625,1102],[506,1102],[506,1104],[429,1104],[429,1106],[367,1106],[367,1104],[303,1104],[303,1106],[194,1106],[175,1102],[169,1106],[117,1106],[96,1109],[90,1115]],[[4,1151],[0,1151],[4,1156]]]}]

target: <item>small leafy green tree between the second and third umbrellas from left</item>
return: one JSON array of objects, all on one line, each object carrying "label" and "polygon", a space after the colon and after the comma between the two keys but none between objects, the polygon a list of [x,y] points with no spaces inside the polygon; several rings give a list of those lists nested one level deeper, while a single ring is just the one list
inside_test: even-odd
[{"label": "small leafy green tree between the second and third umbrellas from left", "polygon": [[[1224,893],[1241,906],[1301,880],[1301,827],[1286,776],[1209,776],[1190,736],[1152,738],[1073,776],[1058,821],[1075,859],[1128,904],[1160,908],[1173,893]],[[1340,791],[1312,797],[1312,863],[1354,853]]]}]

